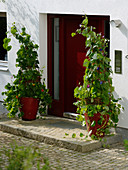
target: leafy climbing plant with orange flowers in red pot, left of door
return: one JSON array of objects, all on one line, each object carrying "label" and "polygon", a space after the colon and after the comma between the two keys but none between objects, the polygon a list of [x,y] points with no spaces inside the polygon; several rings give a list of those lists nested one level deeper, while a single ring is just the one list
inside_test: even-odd
[{"label": "leafy climbing plant with orange flowers in red pot, left of door", "polygon": [[[9,117],[17,113],[23,120],[36,119],[37,110],[45,113],[51,103],[51,97],[45,85],[45,79],[41,82],[43,70],[39,70],[37,50],[39,46],[31,40],[26,33],[25,27],[18,31],[15,23],[11,27],[10,35],[13,35],[21,44],[17,51],[16,67],[19,68],[17,75],[13,75],[14,81],[5,86],[2,93],[6,98],[4,105],[9,111]],[[9,51],[10,36],[4,39],[3,47]]]}]

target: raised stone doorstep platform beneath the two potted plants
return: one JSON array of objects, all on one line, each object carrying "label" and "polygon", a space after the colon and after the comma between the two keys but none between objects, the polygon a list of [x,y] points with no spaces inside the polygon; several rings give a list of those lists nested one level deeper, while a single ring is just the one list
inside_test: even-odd
[{"label": "raised stone doorstep platform beneath the two potted plants", "polygon": [[[85,139],[86,127],[82,127],[79,122],[52,116],[34,121],[1,117],[0,130],[79,152],[88,152],[121,142],[121,136],[117,134],[105,137],[102,142],[91,140],[89,137]],[[84,136],[80,137],[80,133]]]}]

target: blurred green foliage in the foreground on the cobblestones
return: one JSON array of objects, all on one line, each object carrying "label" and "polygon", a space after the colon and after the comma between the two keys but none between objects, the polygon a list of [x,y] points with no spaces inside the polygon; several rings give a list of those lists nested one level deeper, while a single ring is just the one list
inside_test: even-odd
[{"label": "blurred green foliage in the foreground on the cobblestones", "polygon": [[37,147],[11,144],[10,149],[2,149],[0,158],[0,168],[4,164],[7,170],[50,169],[48,159]]}]

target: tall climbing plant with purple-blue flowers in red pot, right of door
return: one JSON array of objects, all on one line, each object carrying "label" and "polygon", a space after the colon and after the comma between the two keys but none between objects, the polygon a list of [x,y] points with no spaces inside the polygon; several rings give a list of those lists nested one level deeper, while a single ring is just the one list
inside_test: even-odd
[{"label": "tall climbing plant with purple-blue flowers in red pot, right of door", "polygon": [[[85,122],[92,138],[103,137],[111,126],[116,127],[122,106],[115,99],[112,86],[110,58],[107,57],[108,40],[88,26],[88,18],[82,21],[80,28],[72,36],[80,34],[85,37],[87,49],[83,62],[85,75],[83,84],[74,90],[79,113],[77,120]],[[83,117],[84,115],[84,117]]]}]

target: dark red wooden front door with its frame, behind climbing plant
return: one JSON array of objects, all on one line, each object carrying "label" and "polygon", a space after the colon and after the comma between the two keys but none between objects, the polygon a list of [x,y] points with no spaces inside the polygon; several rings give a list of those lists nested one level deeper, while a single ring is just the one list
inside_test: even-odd
[{"label": "dark red wooden front door with its frame, behind climbing plant", "polygon": [[[56,25],[55,18],[58,18],[59,24]],[[89,16],[89,25],[96,27],[96,32],[105,32],[105,21],[108,17]],[[75,15],[49,15],[48,16],[48,84],[50,93],[53,96],[52,108],[49,114],[63,116],[63,112],[76,112],[76,107],[73,105],[74,88],[79,82],[82,83],[85,68],[83,61],[86,57],[85,38],[81,35],[71,37],[82,21],[81,16]],[[56,29],[59,29],[58,35]],[[59,66],[55,57],[56,44],[55,39],[58,39],[58,58]],[[55,88],[55,77],[57,75],[55,67],[58,67],[58,88]],[[58,97],[56,98],[56,91]]]}]

